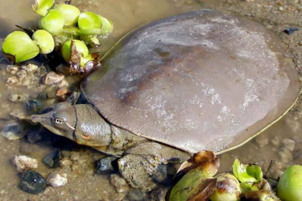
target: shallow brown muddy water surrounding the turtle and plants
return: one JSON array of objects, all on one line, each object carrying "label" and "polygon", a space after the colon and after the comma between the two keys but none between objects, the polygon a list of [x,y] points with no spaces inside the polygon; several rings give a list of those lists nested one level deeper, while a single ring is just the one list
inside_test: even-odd
[{"label": "shallow brown muddy water surrounding the turtle and plants", "polygon": [[[224,3],[226,2],[226,3]],[[271,1],[194,1],[194,0],[73,0],[72,4],[78,6],[82,12],[93,11],[112,20],[114,31],[111,36],[102,39],[103,47],[93,51],[100,54],[105,53],[120,37],[131,29],[147,23],[149,21],[175,15],[178,13],[198,10],[200,8],[212,8],[222,11],[229,11],[239,15],[252,17],[254,20],[262,22],[268,28],[281,32],[282,25],[276,23],[279,16],[284,15],[285,23],[294,21],[297,15],[290,16],[292,11],[286,10],[278,12],[280,4]],[[289,1],[290,2],[290,1]],[[32,13],[30,0],[11,0],[1,3],[0,6],[0,34],[2,36],[15,29],[14,24],[21,26],[35,26],[38,17]],[[290,5],[291,6],[291,5]],[[267,13],[259,12],[259,8],[272,8]],[[263,10],[261,10],[263,11]],[[249,13],[248,13],[249,12]],[[270,14],[268,14],[270,13]],[[268,18],[266,21],[265,19]],[[282,19],[284,19],[282,18]],[[270,23],[270,21],[274,23]],[[291,23],[292,25],[292,23]],[[284,42],[291,49],[298,51],[298,47],[292,45],[292,38],[281,35]],[[294,35],[294,37],[296,37]],[[298,38],[302,41],[302,38]],[[294,57],[295,55],[290,55]],[[299,57],[295,58],[296,62]],[[0,66],[0,70],[5,65]],[[39,91],[34,89],[8,88],[5,85],[8,73],[1,70],[0,76],[0,125],[12,121],[10,113],[18,111],[25,112],[24,103],[12,103],[9,96],[12,93],[27,93],[36,97]],[[72,85],[72,84],[71,84]],[[235,158],[243,162],[253,162],[260,164],[264,173],[276,178],[282,170],[290,164],[302,164],[302,123],[300,119],[300,105],[297,105],[289,114],[284,116],[279,122],[270,127],[260,136],[244,146],[220,155],[220,171],[230,171]],[[30,132],[30,131],[29,131]],[[125,193],[117,193],[110,185],[109,175],[95,173],[94,161],[103,157],[101,153],[88,147],[78,146],[70,141],[54,136],[43,130],[42,140],[30,144],[27,138],[15,141],[8,141],[0,136],[0,200],[127,200]],[[50,169],[42,163],[42,158],[55,148],[63,150],[63,160],[70,165]],[[18,189],[20,174],[14,168],[11,160],[15,154],[27,154],[36,158],[39,162],[37,171],[44,177],[53,171],[67,173],[68,183],[60,188],[47,187],[43,193],[32,195]]]}]

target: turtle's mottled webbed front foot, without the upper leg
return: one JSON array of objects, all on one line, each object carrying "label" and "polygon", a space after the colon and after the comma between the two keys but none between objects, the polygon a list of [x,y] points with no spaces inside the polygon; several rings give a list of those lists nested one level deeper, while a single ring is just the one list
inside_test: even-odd
[{"label": "turtle's mottled webbed front foot, without the upper leg", "polygon": [[158,164],[150,163],[144,156],[128,154],[118,160],[121,175],[132,187],[147,188],[147,178],[152,175]]}]

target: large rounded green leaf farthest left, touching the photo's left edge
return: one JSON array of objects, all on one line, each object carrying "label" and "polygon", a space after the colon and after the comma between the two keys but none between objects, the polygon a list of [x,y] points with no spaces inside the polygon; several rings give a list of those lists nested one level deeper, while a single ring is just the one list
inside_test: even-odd
[{"label": "large rounded green leaf farthest left, touching the photo's left edge", "polygon": [[2,44],[2,51],[15,57],[15,62],[34,58],[39,54],[39,47],[24,32],[15,31],[9,34]]}]

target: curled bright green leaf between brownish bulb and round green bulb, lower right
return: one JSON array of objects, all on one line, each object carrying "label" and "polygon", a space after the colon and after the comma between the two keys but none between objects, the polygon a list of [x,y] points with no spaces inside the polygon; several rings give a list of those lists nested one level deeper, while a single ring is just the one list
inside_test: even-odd
[{"label": "curled bright green leaf between brownish bulb and round green bulb, lower right", "polygon": [[255,183],[261,181],[263,174],[261,167],[255,164],[241,164],[235,159],[233,173],[241,182]]}]

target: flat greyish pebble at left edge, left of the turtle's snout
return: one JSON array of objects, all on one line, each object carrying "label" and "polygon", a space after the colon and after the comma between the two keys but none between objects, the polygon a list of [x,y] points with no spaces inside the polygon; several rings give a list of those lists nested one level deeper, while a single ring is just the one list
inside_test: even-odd
[{"label": "flat greyish pebble at left edge, left of the turtle's snout", "polygon": [[18,122],[6,124],[1,133],[8,140],[18,140],[26,135],[24,125]]}]

